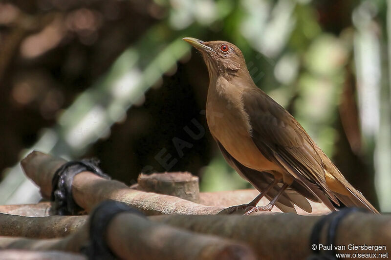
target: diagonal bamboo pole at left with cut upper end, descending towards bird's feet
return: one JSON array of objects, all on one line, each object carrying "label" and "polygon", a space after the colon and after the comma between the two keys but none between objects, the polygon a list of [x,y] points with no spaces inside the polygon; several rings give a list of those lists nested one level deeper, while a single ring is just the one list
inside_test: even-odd
[{"label": "diagonal bamboo pole at left with cut upper end, descending towards bird's feet", "polygon": [[[21,164],[25,174],[40,187],[43,198],[50,198],[53,175],[65,162],[63,159],[33,151],[22,160]],[[74,177],[72,196],[87,212],[108,199],[123,201],[146,215],[214,215],[223,209],[200,205],[173,196],[130,189],[122,182],[105,180],[90,172],[82,172]]]}]

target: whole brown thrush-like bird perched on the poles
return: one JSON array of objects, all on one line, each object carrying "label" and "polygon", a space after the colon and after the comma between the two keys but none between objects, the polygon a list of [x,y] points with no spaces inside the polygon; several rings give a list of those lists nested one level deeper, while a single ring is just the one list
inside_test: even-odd
[{"label": "whole brown thrush-like bird perched on the poles", "polygon": [[[307,134],[301,124],[252,80],[240,49],[227,41],[190,43],[202,55],[209,72],[206,120],[224,159],[260,194],[224,213],[245,210],[294,212],[295,205],[311,213],[308,200],[331,211],[340,201],[348,207],[379,212],[356,190]],[[262,197],[270,200],[257,206]],[[308,200],[306,200],[308,199]]]}]

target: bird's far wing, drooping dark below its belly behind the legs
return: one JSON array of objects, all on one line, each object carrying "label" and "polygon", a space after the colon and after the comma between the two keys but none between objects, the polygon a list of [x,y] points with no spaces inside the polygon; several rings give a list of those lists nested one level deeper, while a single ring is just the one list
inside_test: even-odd
[{"label": "bird's far wing, drooping dark below its belly behind the legs", "polygon": [[[247,168],[243,164],[239,163],[239,161],[233,158],[227,150],[225,150],[223,145],[216,138],[215,140],[217,141],[217,145],[220,148],[224,159],[239,173],[242,178],[249,181],[259,192],[262,192],[262,190],[264,190],[267,185],[273,181],[273,176],[271,174]],[[280,187],[276,185],[265,195],[265,197],[268,200],[272,200],[277,195],[279,189]],[[309,202],[301,194],[298,194],[296,191],[291,189],[282,193],[282,196],[276,202],[276,206],[281,209],[282,212],[296,213],[294,204],[308,213],[312,212],[311,204],[309,204]]]}]

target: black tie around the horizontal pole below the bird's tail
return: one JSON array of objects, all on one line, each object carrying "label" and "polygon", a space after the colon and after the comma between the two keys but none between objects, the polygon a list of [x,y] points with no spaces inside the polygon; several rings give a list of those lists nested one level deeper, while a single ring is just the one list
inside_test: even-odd
[{"label": "black tie around the horizontal pole below the bird's tail", "polygon": [[[311,237],[310,237],[310,246],[312,249],[313,254],[307,258],[307,260],[337,260],[336,257],[336,250],[335,250],[335,242],[336,242],[336,235],[337,235],[337,229],[341,221],[348,216],[350,213],[353,212],[368,212],[365,209],[361,208],[343,208],[340,211],[335,211],[331,214],[326,215],[322,219],[318,220],[318,222],[315,223]],[[327,227],[327,239],[326,239],[326,246],[331,245],[331,250],[326,251],[320,251],[319,244],[320,244],[320,236],[322,234],[322,230],[326,223],[329,223]],[[315,249],[312,248],[312,245],[316,245]]]}]

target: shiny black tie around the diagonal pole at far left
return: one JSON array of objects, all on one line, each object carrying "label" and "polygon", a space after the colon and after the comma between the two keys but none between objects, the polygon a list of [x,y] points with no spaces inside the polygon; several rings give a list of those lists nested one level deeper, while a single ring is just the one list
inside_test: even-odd
[{"label": "shiny black tie around the diagonal pole at far left", "polygon": [[50,200],[54,201],[57,215],[78,215],[83,209],[76,204],[72,197],[73,178],[81,172],[92,172],[102,178],[110,180],[109,175],[98,167],[99,160],[83,159],[65,162],[55,172],[52,179],[52,193]]}]

